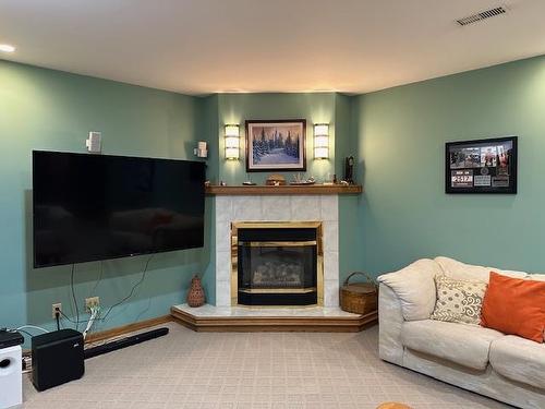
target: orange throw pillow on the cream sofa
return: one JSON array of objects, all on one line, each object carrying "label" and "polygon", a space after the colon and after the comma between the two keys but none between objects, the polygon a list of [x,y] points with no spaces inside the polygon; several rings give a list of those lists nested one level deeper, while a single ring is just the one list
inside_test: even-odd
[{"label": "orange throw pillow on the cream sofa", "polygon": [[481,325],[543,342],[545,281],[511,278],[491,272]]}]

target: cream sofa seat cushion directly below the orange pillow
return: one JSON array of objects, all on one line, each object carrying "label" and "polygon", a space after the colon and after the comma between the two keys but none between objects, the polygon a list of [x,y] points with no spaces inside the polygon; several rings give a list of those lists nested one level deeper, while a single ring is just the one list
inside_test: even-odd
[{"label": "cream sofa seat cushion directly below the orange pillow", "polygon": [[545,389],[545,344],[514,335],[496,339],[491,346],[491,364],[505,377]]}]

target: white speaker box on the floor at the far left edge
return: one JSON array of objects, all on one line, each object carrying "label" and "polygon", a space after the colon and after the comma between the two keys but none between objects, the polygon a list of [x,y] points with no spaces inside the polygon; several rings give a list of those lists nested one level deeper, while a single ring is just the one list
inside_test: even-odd
[{"label": "white speaker box on the floor at the far left edge", "polygon": [[0,349],[0,408],[23,402],[21,346]]}]

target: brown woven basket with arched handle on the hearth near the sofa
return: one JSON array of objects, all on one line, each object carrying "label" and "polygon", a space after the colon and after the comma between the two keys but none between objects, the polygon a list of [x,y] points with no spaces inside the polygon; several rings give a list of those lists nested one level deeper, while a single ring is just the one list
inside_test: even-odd
[{"label": "brown woven basket with arched handle on the hearth near the sofa", "polygon": [[[367,282],[349,284],[355,275],[364,276]],[[347,277],[340,288],[341,310],[355,314],[367,314],[378,309],[378,288],[376,281],[366,273],[355,272]]]}]

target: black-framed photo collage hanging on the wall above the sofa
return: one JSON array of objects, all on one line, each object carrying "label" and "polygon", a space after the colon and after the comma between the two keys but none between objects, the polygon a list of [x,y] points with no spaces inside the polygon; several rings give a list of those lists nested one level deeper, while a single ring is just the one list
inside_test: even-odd
[{"label": "black-framed photo collage hanging on the wall above the sofa", "polygon": [[518,136],[445,144],[445,193],[517,194]]}]

